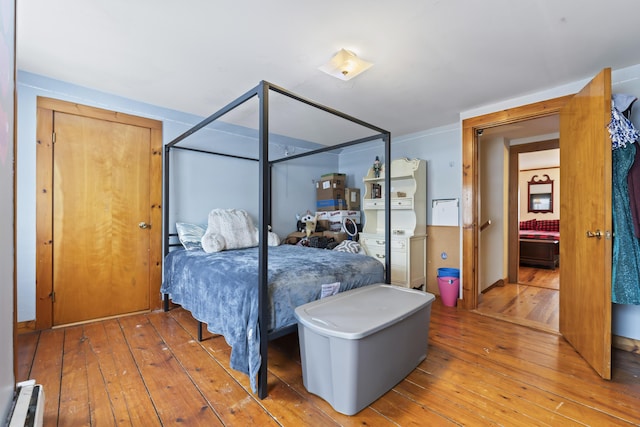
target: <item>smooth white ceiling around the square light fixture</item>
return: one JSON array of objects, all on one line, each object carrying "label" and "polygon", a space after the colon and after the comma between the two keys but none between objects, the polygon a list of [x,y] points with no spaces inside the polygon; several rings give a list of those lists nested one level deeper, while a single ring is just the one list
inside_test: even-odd
[{"label": "smooth white ceiling around the square light fixture", "polygon": [[[340,48],[375,65],[319,71]],[[640,2],[18,0],[17,63],[200,116],[267,80],[399,136],[640,63]]]}]

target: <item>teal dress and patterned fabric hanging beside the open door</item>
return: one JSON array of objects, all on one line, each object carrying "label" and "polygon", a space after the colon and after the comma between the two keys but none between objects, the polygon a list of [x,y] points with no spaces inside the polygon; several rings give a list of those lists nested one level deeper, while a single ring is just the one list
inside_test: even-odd
[{"label": "teal dress and patterned fabric hanging beside the open door", "polygon": [[634,97],[616,97],[611,106],[609,134],[612,147],[613,259],[611,299],[617,304],[640,305],[640,240],[634,233],[627,177],[634,164],[638,131],[619,108],[631,108]]}]

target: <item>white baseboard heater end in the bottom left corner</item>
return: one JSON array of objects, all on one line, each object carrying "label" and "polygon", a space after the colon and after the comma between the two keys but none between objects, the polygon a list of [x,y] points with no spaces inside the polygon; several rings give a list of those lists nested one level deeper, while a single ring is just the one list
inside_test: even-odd
[{"label": "white baseboard heater end in the bottom left corner", "polygon": [[40,427],[44,417],[44,390],[35,380],[16,384],[8,427]]}]

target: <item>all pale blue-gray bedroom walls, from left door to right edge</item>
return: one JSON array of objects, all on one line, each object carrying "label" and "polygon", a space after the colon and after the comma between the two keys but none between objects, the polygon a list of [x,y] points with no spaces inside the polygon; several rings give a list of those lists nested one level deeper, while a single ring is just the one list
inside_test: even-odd
[{"label": "all pale blue-gray bedroom walls, from left door to right edge", "polygon": [[[594,70],[594,74],[598,70]],[[513,108],[531,102],[577,92],[588,79],[576,81],[526,97],[514,98],[501,103],[485,105],[461,112],[461,119],[488,114],[505,108]],[[613,73],[614,92],[640,96],[640,65]],[[35,317],[35,103],[36,96],[48,96],[85,105],[136,114],[162,120],[164,141],[179,135],[199,117],[171,111],[151,105],[99,93],[71,84],[46,79],[29,73],[18,75],[18,320]],[[640,125],[640,108],[634,111],[634,122]],[[412,135],[392,135],[392,158],[421,158],[427,161],[427,198],[460,198],[462,191],[462,145],[461,124],[428,129]],[[277,147],[275,147],[277,149]],[[325,154],[317,158],[300,159],[279,165],[274,171],[276,207],[274,230],[285,236],[295,227],[295,214],[314,209],[314,180],[327,172],[339,171],[347,174],[347,185],[362,189],[362,176],[371,166],[375,156],[383,159],[382,145],[351,147],[341,155]],[[172,192],[171,219],[205,222],[213,207],[243,207],[254,214],[257,209],[257,171],[250,166],[239,166],[235,161],[222,159],[209,163],[207,170],[189,177],[198,170],[195,164],[204,162],[201,155],[180,154],[175,168],[186,183]],[[384,160],[384,159],[383,159]],[[203,163],[204,164],[204,163]],[[242,178],[238,178],[238,173]],[[237,190],[236,181],[247,182]],[[245,181],[246,180],[246,181]],[[220,188],[234,191],[219,191]],[[201,192],[202,191],[202,192]],[[209,192],[209,193],[207,193]],[[202,194],[205,194],[203,197]],[[190,194],[198,194],[192,198]],[[207,195],[208,194],[208,195]],[[176,199],[179,203],[175,203]],[[428,224],[431,224],[430,209]],[[613,333],[640,339],[640,307],[615,305],[613,311]]]}]

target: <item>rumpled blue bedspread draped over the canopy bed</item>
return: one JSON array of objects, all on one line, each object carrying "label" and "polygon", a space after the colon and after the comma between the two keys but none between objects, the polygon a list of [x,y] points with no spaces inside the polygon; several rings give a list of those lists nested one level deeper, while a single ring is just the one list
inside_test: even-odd
[{"label": "rumpled blue bedspread draped over the canopy bed", "polygon": [[[294,245],[268,252],[269,331],[295,324],[294,309],[319,299],[323,284],[340,282],[342,292],[384,281],[383,265],[366,255]],[[258,248],[174,250],[165,259],[161,292],[225,337],[231,367],[249,375],[255,392],[261,364]]]}]

